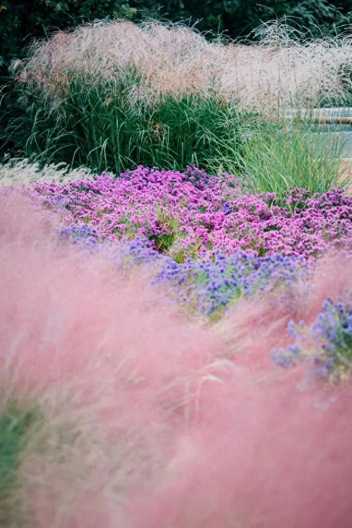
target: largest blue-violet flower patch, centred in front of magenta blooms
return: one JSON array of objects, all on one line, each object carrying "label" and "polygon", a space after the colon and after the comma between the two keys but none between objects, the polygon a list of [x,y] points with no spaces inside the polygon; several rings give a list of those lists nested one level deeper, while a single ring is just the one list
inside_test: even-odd
[{"label": "largest blue-violet flower patch, centred in front of magenta blooms", "polygon": [[306,279],[309,273],[303,257],[280,253],[255,257],[244,251],[226,257],[217,251],[215,259],[188,259],[182,265],[167,259],[156,282],[171,285],[178,299],[191,302],[198,312],[210,316],[235,299],[287,288],[298,278]]}]

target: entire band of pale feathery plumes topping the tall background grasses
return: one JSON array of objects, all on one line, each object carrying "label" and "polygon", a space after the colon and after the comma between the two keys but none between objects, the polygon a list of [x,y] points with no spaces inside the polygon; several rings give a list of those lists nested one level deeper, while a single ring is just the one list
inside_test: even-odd
[{"label": "entire band of pale feathery plumes topping the tall background grasses", "polygon": [[112,91],[125,83],[132,105],[197,94],[272,112],[314,107],[321,95],[346,97],[350,37],[301,42],[277,22],[258,35],[259,43],[244,46],[209,42],[181,24],[97,21],[58,32],[49,41],[34,41],[12,71],[19,83],[40,90],[52,103],[66,95],[74,78],[85,78],[89,86],[110,82]]}]

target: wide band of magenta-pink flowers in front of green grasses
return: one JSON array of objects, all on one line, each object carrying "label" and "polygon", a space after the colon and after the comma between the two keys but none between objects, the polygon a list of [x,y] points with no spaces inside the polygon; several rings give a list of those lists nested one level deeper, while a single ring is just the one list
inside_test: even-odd
[{"label": "wide band of magenta-pink flowers in front of green grasses", "polygon": [[96,229],[97,240],[147,238],[177,262],[217,250],[309,259],[352,243],[352,198],[336,188],[321,196],[299,189],[280,197],[242,195],[230,174],[139,166],[116,179],[35,183],[27,192],[56,209],[64,224]]}]

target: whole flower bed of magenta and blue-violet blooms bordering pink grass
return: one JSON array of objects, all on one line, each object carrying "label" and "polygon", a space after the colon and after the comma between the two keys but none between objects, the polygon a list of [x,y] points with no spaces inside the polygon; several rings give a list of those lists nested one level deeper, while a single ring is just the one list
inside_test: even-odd
[{"label": "whole flower bed of magenta and blue-violet blooms bordering pink grass", "polygon": [[[322,195],[302,189],[243,195],[231,174],[140,166],[116,179],[102,174],[23,190],[57,215],[61,238],[88,253],[104,248],[126,269],[148,262],[153,284],[188,314],[213,321],[235,302],[309,284],[317,259],[348,254],[352,246],[352,198],[337,188]],[[281,366],[309,359],[315,368],[328,361],[320,373],[333,378],[338,368],[345,376],[349,355],[332,360],[330,345],[332,334],[315,354],[294,344],[271,357]]]}]

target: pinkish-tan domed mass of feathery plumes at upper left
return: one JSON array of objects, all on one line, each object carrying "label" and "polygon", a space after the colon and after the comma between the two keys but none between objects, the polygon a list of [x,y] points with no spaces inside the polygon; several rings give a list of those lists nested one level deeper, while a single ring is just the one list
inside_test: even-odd
[{"label": "pinkish-tan domed mass of feathery plumes at upper left", "polygon": [[103,20],[34,41],[28,58],[13,62],[12,71],[19,83],[54,103],[68,95],[72,80],[85,80],[91,86],[111,82],[112,94],[114,87],[125,86],[127,101],[150,105],[163,95],[210,95],[208,67],[216,52],[181,24]]}]

